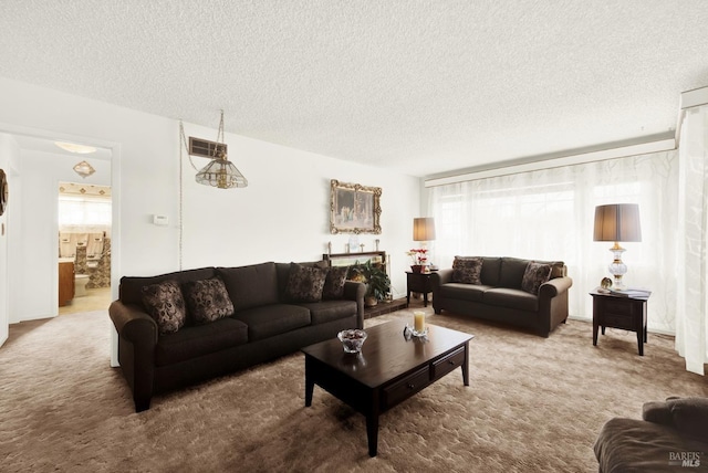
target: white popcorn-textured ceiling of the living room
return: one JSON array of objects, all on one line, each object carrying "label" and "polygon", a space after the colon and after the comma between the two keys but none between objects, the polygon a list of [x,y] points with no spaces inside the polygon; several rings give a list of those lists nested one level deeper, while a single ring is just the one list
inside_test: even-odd
[{"label": "white popcorn-textured ceiling of the living room", "polygon": [[2,0],[0,76],[414,176],[667,134],[706,0]]}]

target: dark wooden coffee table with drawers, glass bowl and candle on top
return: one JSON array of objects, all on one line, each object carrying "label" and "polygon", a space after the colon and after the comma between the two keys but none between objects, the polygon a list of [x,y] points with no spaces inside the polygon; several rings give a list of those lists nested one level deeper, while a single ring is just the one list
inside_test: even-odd
[{"label": "dark wooden coffee table with drawers, glass bowl and candle on top", "polygon": [[405,322],[367,328],[361,354],[346,354],[332,338],[302,349],[305,354],[305,406],[314,385],[366,417],[368,454],[376,456],[378,417],[457,367],[469,386],[469,340],[473,335],[428,324],[426,338],[404,337]]}]

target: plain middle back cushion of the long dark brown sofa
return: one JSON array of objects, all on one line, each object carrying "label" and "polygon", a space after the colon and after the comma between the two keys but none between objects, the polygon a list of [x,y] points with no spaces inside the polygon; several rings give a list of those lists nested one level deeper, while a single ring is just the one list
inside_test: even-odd
[{"label": "plain middle back cushion of the long dark brown sofa", "polygon": [[275,263],[217,267],[217,273],[223,280],[235,312],[279,302]]}]

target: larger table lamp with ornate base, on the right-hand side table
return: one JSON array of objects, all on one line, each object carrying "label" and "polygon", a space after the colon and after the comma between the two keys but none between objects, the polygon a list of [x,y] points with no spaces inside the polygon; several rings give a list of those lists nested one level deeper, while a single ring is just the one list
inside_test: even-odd
[{"label": "larger table lamp with ornate base, on the right-hand side table", "polygon": [[642,241],[642,227],[639,225],[639,206],[636,203],[612,203],[595,207],[594,241],[613,241],[614,246],[610,251],[614,255],[608,270],[615,278],[614,287],[624,290],[622,276],[627,272],[627,265],[622,262],[622,253],[625,249],[620,242]]}]

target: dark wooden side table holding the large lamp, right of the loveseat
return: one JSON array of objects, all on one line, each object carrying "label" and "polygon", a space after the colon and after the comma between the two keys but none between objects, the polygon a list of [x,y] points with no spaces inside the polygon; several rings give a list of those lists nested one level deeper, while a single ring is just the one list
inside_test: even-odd
[{"label": "dark wooden side table holding the large lamp, right of the loveseat", "polygon": [[597,345],[597,328],[602,327],[605,335],[605,327],[622,328],[624,330],[636,332],[639,356],[644,356],[644,344],[646,343],[646,305],[649,299],[646,296],[625,296],[612,293],[598,293],[593,291],[593,345]]}]

